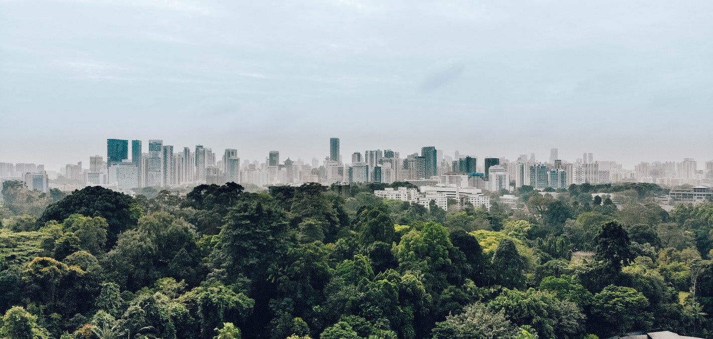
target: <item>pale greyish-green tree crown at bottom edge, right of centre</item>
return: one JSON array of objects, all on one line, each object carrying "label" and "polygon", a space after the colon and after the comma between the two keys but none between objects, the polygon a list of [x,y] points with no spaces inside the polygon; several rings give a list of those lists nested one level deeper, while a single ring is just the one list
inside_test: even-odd
[{"label": "pale greyish-green tree crown at bottom edge, right of centre", "polygon": [[436,323],[432,339],[514,339],[520,331],[503,311],[493,312],[483,303],[463,308],[463,313],[448,315]]}]

